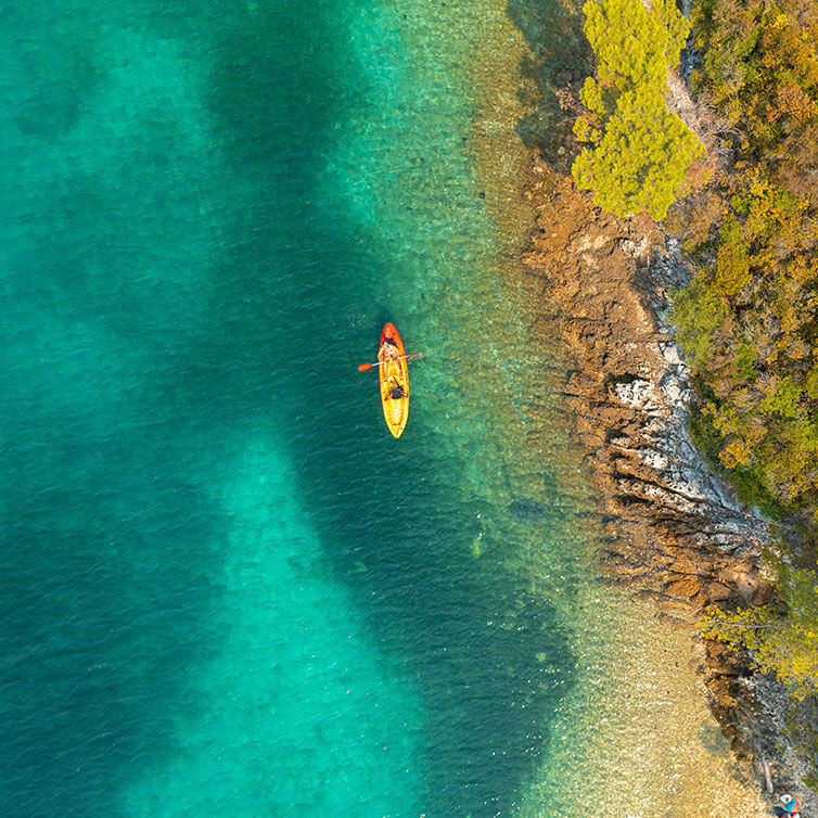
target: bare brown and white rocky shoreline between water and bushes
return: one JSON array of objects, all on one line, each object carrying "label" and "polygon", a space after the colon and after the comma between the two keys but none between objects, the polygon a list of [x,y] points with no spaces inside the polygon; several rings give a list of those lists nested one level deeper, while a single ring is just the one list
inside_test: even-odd
[{"label": "bare brown and white rocky shoreline between water and bushes", "polygon": [[[559,164],[559,163],[558,163]],[[578,191],[566,167],[541,157],[527,195],[536,213],[526,274],[573,357],[564,392],[604,503],[603,563],[616,581],[701,610],[768,601],[761,574],[767,521],[714,474],[688,431],[690,373],[668,322],[669,294],[690,276],[651,219],[617,218]],[[798,788],[785,745],[785,696],[746,655],[704,643],[700,668],[714,715],[763,785]]]}]

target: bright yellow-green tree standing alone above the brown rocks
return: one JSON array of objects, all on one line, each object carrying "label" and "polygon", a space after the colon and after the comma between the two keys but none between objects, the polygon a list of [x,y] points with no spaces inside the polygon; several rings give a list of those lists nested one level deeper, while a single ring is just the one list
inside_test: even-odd
[{"label": "bright yellow-green tree standing alone above the brown rocks", "polygon": [[673,0],[648,11],[641,0],[589,0],[585,33],[597,55],[586,79],[586,114],[574,133],[589,142],[572,172],[593,201],[619,216],[647,210],[661,219],[704,148],[667,110],[668,69],[675,68],[689,26]]}]

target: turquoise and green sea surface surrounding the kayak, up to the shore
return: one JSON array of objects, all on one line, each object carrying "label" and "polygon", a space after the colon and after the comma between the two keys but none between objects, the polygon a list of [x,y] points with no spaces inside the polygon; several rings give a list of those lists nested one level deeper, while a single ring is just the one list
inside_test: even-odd
[{"label": "turquoise and green sea surface surrounding the kayak, up to the shore", "polygon": [[[515,277],[504,4],[0,13],[0,815],[685,816],[702,757],[731,785],[688,631],[597,578]],[[399,440],[357,371],[386,320],[422,353]]]}]

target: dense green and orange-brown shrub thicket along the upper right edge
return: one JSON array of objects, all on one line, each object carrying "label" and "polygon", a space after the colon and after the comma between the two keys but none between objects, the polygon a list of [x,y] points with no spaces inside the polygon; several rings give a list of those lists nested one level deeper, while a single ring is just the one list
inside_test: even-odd
[{"label": "dense green and orange-brown shrub thicket along the upper right edge", "polygon": [[[778,502],[818,508],[818,13],[815,0],[698,0],[700,90],[739,162],[698,225],[705,259],[675,321],[706,385],[718,459]],[[810,22],[811,21],[811,22]],[[712,237],[718,235],[713,244]],[[704,246],[706,242],[706,247]]]}]

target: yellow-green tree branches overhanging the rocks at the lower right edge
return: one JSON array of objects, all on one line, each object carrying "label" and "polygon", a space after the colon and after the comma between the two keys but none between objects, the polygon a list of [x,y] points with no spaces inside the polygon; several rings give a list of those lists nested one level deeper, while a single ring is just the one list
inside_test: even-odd
[{"label": "yellow-green tree branches overhanging the rocks at the lower right edge", "polygon": [[818,575],[777,565],[783,602],[726,612],[707,609],[703,635],[752,652],[756,666],[772,672],[800,700],[818,694]]}]

